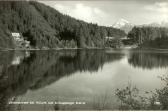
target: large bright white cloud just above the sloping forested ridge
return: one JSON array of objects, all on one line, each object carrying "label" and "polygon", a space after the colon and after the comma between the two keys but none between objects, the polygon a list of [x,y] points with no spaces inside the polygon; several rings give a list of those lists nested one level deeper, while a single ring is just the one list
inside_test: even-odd
[{"label": "large bright white cloud just above the sloping forested ridge", "polygon": [[106,14],[100,8],[86,6],[82,3],[76,3],[73,7],[65,4],[56,4],[54,7],[64,14],[84,20],[86,22],[98,23],[100,25],[104,24],[103,18],[107,18],[108,16],[108,14]]}]

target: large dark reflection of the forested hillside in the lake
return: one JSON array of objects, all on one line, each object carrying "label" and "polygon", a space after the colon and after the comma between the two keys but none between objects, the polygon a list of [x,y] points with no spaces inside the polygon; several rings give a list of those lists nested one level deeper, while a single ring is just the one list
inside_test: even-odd
[{"label": "large dark reflection of the forested hillside in the lake", "polygon": [[123,56],[106,54],[104,50],[32,51],[29,57],[12,65],[13,55],[14,52],[0,54],[0,110],[5,109],[8,98],[28,89],[42,88],[76,71],[98,71],[105,62]]}]

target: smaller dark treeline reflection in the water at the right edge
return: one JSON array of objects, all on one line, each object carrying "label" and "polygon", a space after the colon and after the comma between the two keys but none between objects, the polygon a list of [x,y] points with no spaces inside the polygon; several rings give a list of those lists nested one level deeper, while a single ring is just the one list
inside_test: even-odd
[{"label": "smaller dark treeline reflection in the water at the right edge", "polygon": [[132,52],[128,62],[134,67],[144,69],[167,67],[168,53]]}]

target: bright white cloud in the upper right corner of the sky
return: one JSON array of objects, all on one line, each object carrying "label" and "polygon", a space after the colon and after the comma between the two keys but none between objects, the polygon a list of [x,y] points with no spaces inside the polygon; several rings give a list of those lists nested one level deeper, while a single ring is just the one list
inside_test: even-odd
[{"label": "bright white cloud in the upper right corner of the sky", "polygon": [[160,19],[168,21],[168,2],[155,2],[152,5],[146,5],[146,10],[157,13]]}]

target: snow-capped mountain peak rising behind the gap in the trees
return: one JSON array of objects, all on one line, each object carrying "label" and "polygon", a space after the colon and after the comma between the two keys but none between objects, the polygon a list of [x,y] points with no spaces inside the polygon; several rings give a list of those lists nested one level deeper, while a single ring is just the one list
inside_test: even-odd
[{"label": "snow-capped mountain peak rising behind the gap in the trees", "polygon": [[125,19],[120,19],[116,23],[113,24],[113,27],[117,29],[121,29],[125,31],[126,33],[128,33],[129,31],[131,31],[134,25]]}]

